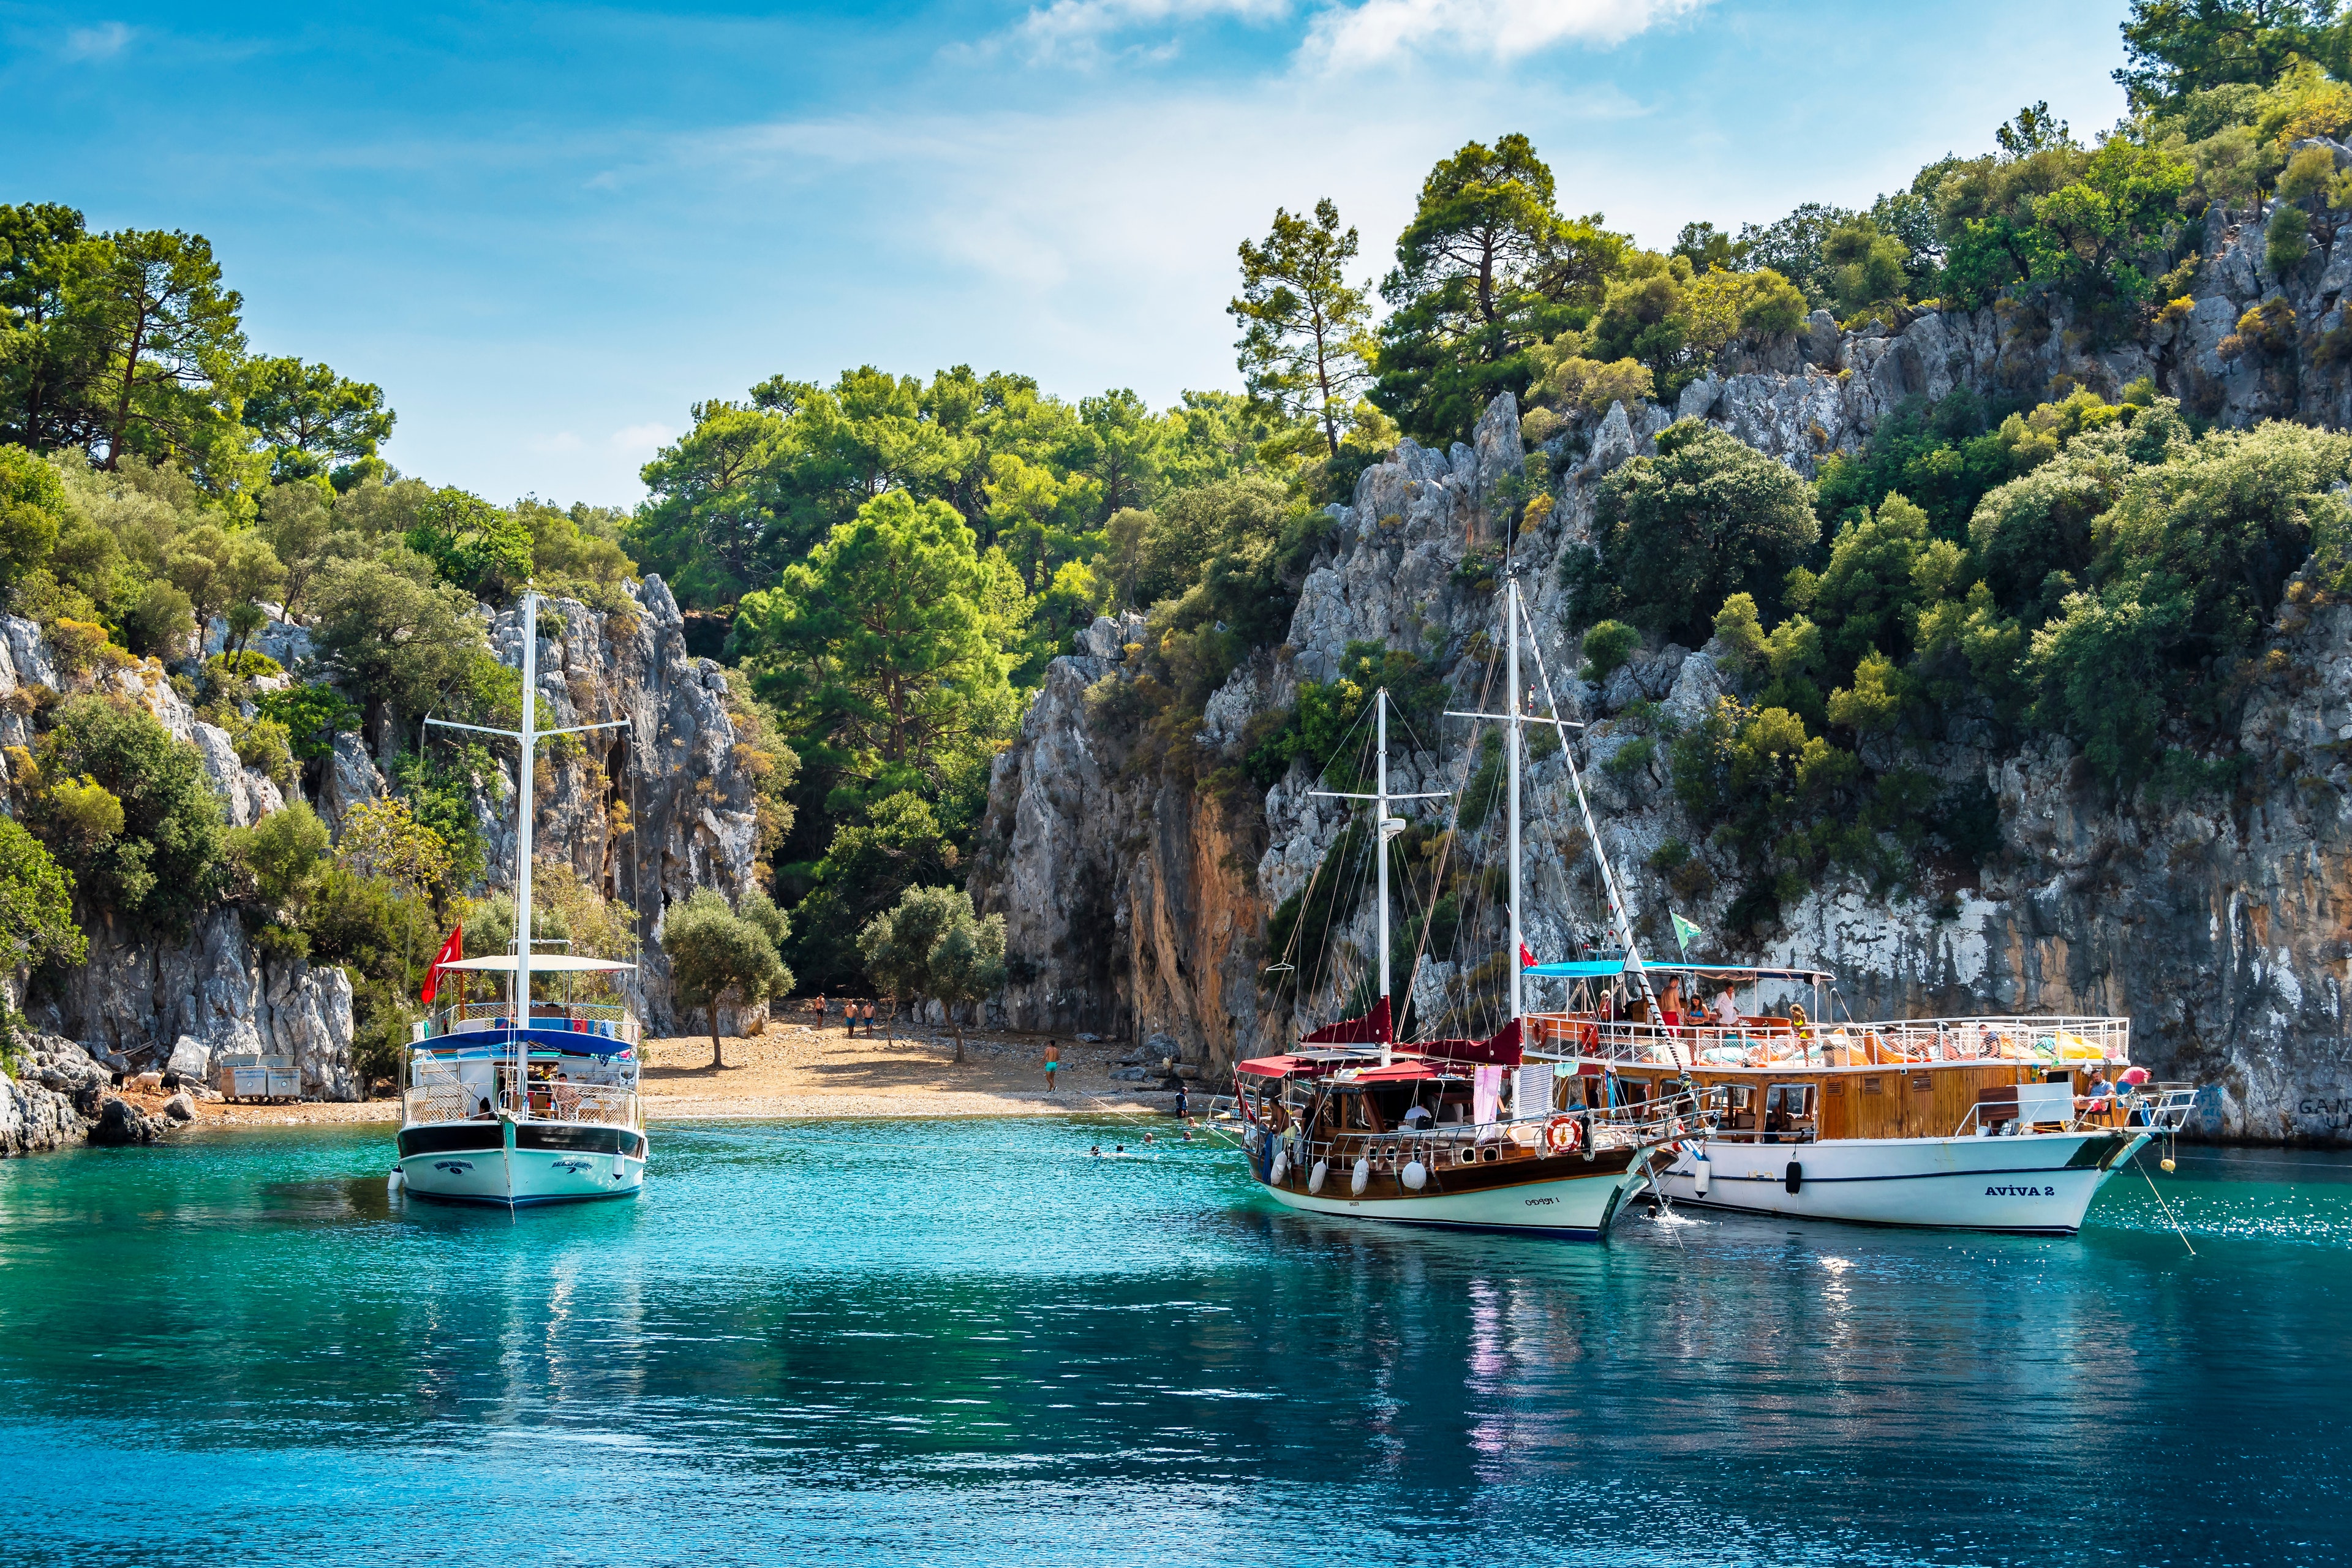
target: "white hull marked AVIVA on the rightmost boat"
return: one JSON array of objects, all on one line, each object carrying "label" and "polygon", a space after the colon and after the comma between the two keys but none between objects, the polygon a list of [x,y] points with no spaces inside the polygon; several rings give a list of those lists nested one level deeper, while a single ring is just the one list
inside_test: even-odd
[{"label": "white hull marked AVIVA on the rightmost boat", "polygon": [[1658,1192],[1677,1204],[1790,1220],[2072,1237],[2098,1190],[2145,1143],[2145,1131],[2105,1128],[1795,1145],[1708,1140],[1658,1175]]}]

